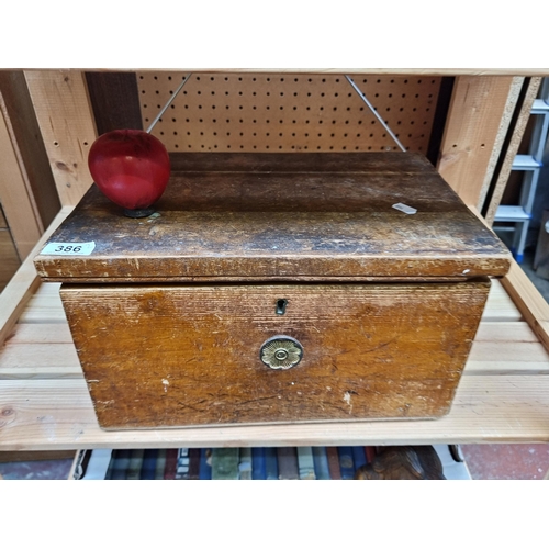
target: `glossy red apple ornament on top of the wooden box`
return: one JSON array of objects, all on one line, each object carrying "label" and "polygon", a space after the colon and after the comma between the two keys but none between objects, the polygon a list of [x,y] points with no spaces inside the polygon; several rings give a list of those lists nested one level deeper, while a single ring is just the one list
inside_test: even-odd
[{"label": "glossy red apple ornament on top of the wooden box", "polygon": [[101,192],[133,217],[153,213],[149,206],[163,195],[170,176],[166,147],[141,130],[115,130],[98,137],[88,166]]}]

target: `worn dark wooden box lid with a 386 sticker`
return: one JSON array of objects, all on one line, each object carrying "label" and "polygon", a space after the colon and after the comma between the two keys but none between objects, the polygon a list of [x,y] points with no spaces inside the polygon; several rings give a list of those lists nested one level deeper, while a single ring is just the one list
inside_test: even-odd
[{"label": "worn dark wooden box lid with a 386 sticker", "polygon": [[[181,155],[155,209],[126,217],[92,186],[36,256],[40,276],[438,280],[504,276],[511,265],[501,240],[412,153]],[[93,244],[76,253],[75,243]]]}]

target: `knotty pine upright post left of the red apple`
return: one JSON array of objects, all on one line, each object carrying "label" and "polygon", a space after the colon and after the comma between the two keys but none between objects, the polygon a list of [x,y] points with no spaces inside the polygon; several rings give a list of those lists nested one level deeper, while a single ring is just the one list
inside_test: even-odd
[{"label": "knotty pine upright post left of the red apple", "polygon": [[69,70],[26,70],[57,192],[75,205],[92,183],[88,152],[97,137],[83,75]]}]

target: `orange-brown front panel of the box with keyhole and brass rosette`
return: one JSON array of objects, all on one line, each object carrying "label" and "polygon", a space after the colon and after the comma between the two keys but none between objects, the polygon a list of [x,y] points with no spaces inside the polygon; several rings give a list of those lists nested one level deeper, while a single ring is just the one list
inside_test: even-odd
[{"label": "orange-brown front panel of the box with keyhole and brass rosette", "polygon": [[100,425],[158,428],[444,415],[489,285],[64,285],[61,299]]}]

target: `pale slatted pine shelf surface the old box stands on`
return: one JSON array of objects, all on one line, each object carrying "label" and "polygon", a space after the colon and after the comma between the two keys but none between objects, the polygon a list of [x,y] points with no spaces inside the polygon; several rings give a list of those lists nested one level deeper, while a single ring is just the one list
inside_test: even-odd
[{"label": "pale slatted pine shelf surface the old box stands on", "polygon": [[38,287],[0,351],[0,450],[549,441],[549,355],[498,281],[445,418],[126,432],[97,424],[58,289]]}]

